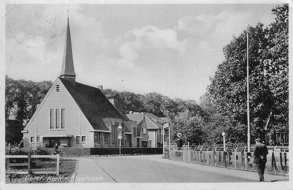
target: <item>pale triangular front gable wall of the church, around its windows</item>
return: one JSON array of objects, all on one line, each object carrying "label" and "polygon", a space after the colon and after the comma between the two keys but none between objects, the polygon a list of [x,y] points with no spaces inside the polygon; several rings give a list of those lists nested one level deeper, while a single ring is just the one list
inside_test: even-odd
[{"label": "pale triangular front gable wall of the church, around its windows", "polygon": [[[59,92],[56,91],[56,85],[60,87]],[[42,135],[73,135],[70,138],[70,146],[79,147],[79,143],[76,143],[76,136],[79,136],[79,134],[86,136],[86,142],[81,143],[81,148],[94,147],[94,133],[89,132],[93,127],[59,78],[46,96],[24,129],[28,131],[27,133],[23,133],[24,147],[36,146],[35,143],[31,143],[31,137],[35,137],[36,139],[36,136],[39,137]],[[65,109],[65,129],[50,129],[50,109]],[[41,143],[37,143],[38,145],[41,145]]]}]

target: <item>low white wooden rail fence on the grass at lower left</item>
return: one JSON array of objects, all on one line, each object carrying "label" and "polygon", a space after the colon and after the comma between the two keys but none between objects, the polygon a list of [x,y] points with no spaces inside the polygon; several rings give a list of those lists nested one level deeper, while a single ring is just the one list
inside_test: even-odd
[{"label": "low white wooden rail fence on the grass at lower left", "polygon": [[[10,158],[27,158],[28,159],[28,163],[10,163]],[[35,163],[36,166],[55,166],[56,165],[56,171],[31,171],[31,159],[32,158],[55,158],[57,163]],[[6,166],[7,166],[7,171],[6,173],[17,173],[17,174],[27,174],[27,175],[31,175],[31,174],[56,174],[59,175],[59,154],[56,155],[5,155],[5,161],[6,161]],[[10,167],[11,166],[27,166],[28,167],[28,171],[24,171],[24,172],[17,172],[17,171],[10,171]]]}]

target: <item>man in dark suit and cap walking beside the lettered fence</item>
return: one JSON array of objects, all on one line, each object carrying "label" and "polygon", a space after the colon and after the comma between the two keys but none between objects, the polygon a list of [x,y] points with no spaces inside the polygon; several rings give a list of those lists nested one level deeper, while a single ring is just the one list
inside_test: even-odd
[{"label": "man in dark suit and cap walking beside the lettered fence", "polygon": [[265,181],[264,173],[265,173],[265,163],[267,163],[267,154],[269,153],[267,151],[266,145],[262,144],[260,142],[260,139],[254,140],[255,146],[254,146],[254,159],[253,163],[255,163],[255,166],[257,167],[257,172],[259,175],[259,181]]}]

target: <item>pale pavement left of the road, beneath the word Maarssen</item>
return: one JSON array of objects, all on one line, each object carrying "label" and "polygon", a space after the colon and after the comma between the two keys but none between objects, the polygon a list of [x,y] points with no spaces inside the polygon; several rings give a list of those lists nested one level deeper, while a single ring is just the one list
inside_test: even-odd
[{"label": "pale pavement left of the road, beneath the word Maarssen", "polygon": [[71,177],[71,183],[115,183],[106,172],[98,167],[90,158],[78,158],[76,169]]}]

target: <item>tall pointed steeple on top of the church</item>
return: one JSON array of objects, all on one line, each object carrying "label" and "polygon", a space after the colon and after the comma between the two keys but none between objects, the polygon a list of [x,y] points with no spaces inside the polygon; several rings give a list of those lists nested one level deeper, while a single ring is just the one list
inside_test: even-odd
[{"label": "tall pointed steeple on top of the church", "polygon": [[76,74],[74,72],[74,65],[73,65],[71,37],[70,37],[70,28],[69,28],[69,17],[68,17],[67,18],[67,29],[66,29],[66,37],[65,37],[64,55],[63,55],[62,70],[61,70],[60,77],[75,81],[75,76],[76,76]]}]

